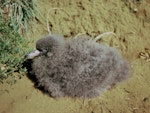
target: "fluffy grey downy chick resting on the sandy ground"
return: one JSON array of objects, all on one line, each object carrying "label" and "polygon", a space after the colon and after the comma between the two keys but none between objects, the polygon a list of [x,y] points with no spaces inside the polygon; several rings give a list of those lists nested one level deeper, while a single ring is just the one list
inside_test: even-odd
[{"label": "fluffy grey downy chick resting on the sandy ground", "polygon": [[96,97],[129,76],[129,66],[116,49],[87,36],[64,41],[51,35],[38,40],[36,48],[33,72],[52,97]]}]

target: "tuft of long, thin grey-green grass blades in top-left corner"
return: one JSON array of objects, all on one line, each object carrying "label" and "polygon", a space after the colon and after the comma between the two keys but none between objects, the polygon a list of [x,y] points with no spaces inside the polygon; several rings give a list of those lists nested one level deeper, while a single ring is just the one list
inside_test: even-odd
[{"label": "tuft of long, thin grey-green grass blades in top-left corner", "polygon": [[0,13],[10,18],[11,26],[16,32],[28,32],[28,22],[37,12],[35,0],[1,0]]}]

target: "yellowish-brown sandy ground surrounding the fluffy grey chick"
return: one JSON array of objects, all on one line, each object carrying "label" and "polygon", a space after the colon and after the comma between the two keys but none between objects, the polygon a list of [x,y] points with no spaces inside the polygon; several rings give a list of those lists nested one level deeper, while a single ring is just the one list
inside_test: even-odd
[{"label": "yellowish-brown sandy ground surrounding the fluffy grey chick", "polygon": [[[141,1],[136,2],[136,1]],[[0,85],[0,113],[150,113],[150,62],[138,58],[150,49],[149,0],[42,0],[39,20],[28,38],[52,33],[71,38],[78,33],[95,36],[113,31],[100,43],[117,48],[131,65],[131,77],[94,99],[53,99],[24,76],[15,85]],[[147,56],[147,59],[149,56]]]}]

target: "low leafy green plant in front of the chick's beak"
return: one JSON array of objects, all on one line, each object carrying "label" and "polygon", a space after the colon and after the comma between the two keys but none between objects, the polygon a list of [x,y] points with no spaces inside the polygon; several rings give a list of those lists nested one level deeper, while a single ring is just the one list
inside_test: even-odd
[{"label": "low leafy green plant in front of the chick's beak", "polygon": [[8,77],[14,77],[13,73],[22,75],[24,56],[29,52],[28,41],[10,26],[10,19],[0,16],[0,82]]}]

